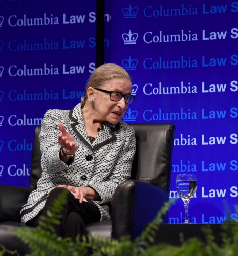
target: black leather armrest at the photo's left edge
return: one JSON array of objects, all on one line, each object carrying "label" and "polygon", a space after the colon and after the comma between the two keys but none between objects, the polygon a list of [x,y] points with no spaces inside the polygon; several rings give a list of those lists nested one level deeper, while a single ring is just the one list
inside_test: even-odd
[{"label": "black leather armrest at the photo's left edge", "polygon": [[28,187],[0,185],[0,222],[20,222],[21,206],[27,203],[31,191]]}]

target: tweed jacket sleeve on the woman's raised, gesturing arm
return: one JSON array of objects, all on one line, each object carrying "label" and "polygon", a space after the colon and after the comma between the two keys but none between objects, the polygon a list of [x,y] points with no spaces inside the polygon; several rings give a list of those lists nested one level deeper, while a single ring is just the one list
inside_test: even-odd
[{"label": "tweed jacket sleeve on the woman's raised, gesturing arm", "polygon": [[[62,172],[71,165],[67,165],[59,158],[60,144],[58,135],[60,134],[59,122],[63,123],[65,110],[48,110],[42,121],[41,132],[39,135],[40,150],[42,153],[41,167],[43,172],[52,174]],[[59,118],[62,117],[62,120]]]}]

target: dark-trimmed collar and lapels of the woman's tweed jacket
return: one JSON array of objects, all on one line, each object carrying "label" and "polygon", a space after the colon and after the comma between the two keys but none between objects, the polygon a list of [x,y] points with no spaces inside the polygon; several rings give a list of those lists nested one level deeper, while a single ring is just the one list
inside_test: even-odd
[{"label": "dark-trimmed collar and lapels of the woman's tweed jacket", "polygon": [[69,118],[74,121],[74,123],[71,124],[73,130],[76,132],[79,138],[91,149],[91,151],[94,151],[97,148],[104,146],[117,138],[113,131],[118,130],[119,124],[113,125],[105,122],[105,124],[102,126],[101,132],[99,132],[93,144],[91,144],[86,133],[81,104],[78,104],[74,109],[70,110]]}]

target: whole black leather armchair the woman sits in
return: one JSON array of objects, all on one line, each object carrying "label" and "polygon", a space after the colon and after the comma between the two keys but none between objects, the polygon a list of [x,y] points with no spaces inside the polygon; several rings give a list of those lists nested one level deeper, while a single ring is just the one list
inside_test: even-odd
[{"label": "whole black leather armchair the woman sits in", "polygon": [[[92,236],[99,234],[101,237],[120,239],[130,234],[135,239],[143,231],[144,224],[152,221],[163,203],[169,200],[175,126],[170,123],[132,126],[136,132],[137,147],[131,179],[121,183],[115,191],[112,221],[87,226]],[[20,207],[26,204],[29,194],[36,189],[42,174],[40,130],[40,126],[35,129],[30,188],[0,186],[0,244],[10,250],[17,249],[20,255],[25,255],[28,247],[8,228],[24,226],[20,224]],[[167,223],[168,214],[163,216],[163,220]]]}]

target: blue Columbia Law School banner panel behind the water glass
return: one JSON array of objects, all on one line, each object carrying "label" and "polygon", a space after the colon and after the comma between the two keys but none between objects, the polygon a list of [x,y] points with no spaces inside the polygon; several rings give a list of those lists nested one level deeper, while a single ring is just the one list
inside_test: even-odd
[{"label": "blue Columbia Law School banner panel behind the water glass", "polygon": [[[190,222],[238,220],[238,2],[122,0],[111,11],[111,62],[136,95],[124,121],[176,125],[170,198],[178,174],[195,174]],[[169,215],[184,222],[180,198]]]}]

